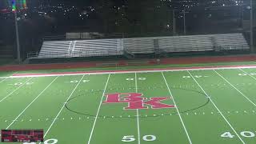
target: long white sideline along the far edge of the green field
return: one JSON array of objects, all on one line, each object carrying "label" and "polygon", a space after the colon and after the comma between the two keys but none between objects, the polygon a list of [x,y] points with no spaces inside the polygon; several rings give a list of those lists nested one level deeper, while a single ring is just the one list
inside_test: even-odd
[{"label": "long white sideline along the far edge of the green field", "polygon": [[74,73],[51,73],[51,74],[30,74],[30,75],[16,75],[8,78],[26,78],[26,77],[52,77],[52,76],[68,76],[68,75],[84,75],[84,74],[133,74],[133,73],[153,73],[165,71],[187,71],[187,70],[231,70],[231,69],[250,69],[256,66],[216,66],[216,67],[191,67],[191,68],[178,68],[173,67],[170,69],[157,68],[157,69],[138,69],[138,70],[106,70],[106,71],[85,71]]}]

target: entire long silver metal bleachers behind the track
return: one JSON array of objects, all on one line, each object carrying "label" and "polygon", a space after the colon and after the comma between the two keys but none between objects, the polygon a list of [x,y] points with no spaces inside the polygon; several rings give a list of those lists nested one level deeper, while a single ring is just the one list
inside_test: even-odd
[{"label": "entire long silver metal bleachers behind the track", "polygon": [[131,54],[153,54],[248,49],[242,34],[208,34],[43,42],[38,58],[122,55],[124,50]]}]

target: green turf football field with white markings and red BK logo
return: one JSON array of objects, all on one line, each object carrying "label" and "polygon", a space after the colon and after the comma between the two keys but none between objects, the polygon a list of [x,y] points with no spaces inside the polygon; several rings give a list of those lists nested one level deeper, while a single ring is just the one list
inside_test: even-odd
[{"label": "green turf football field with white markings and red BK logo", "polygon": [[0,74],[0,129],[43,129],[45,144],[256,143],[256,68],[14,73]]}]

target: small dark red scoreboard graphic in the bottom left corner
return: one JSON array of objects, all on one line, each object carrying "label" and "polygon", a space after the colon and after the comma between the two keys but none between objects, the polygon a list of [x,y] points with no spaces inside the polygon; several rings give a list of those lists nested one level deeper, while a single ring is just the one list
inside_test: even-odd
[{"label": "small dark red scoreboard graphic in the bottom left corner", "polygon": [[43,142],[43,130],[1,130],[1,142]]}]

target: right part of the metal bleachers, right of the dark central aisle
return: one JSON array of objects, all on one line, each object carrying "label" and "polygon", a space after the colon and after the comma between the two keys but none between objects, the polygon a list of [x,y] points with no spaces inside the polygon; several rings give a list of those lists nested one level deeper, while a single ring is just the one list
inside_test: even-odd
[{"label": "right part of the metal bleachers, right of the dark central aisle", "polygon": [[162,52],[249,50],[242,34],[209,34],[158,38]]}]

